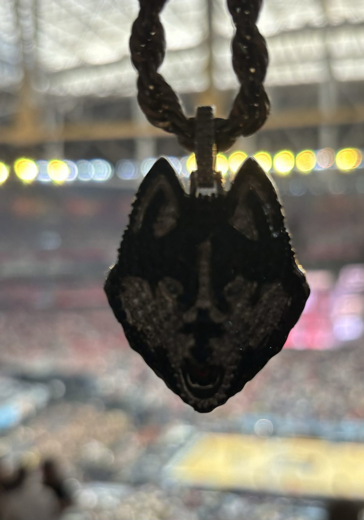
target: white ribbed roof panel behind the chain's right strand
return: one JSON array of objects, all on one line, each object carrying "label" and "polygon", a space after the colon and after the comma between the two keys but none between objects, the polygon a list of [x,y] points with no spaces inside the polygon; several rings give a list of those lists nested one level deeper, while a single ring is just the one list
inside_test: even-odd
[{"label": "white ribbed roof panel behind the chain's right strand", "polygon": [[[214,83],[237,86],[231,68],[232,23],[224,0],[214,2]],[[364,80],[364,2],[266,0],[258,27],[269,50],[267,85]],[[224,77],[224,84],[221,78]]]}]

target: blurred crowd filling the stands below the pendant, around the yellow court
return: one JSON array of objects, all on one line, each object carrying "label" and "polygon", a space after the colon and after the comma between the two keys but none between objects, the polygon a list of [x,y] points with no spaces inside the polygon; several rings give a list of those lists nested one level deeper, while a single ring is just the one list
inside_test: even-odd
[{"label": "blurred crowd filling the stands below the pendant, around the yellow court", "polygon": [[[249,414],[293,423],[364,418],[359,344],[330,351],[284,349],[241,393],[200,415],[127,346],[106,309],[22,311],[9,315],[2,334],[8,345],[0,353],[3,372],[18,374],[19,381],[24,374],[41,381],[50,388],[50,400],[0,437],[3,459],[22,461],[11,478],[2,473],[0,508],[28,503],[30,490],[37,489],[47,508],[53,497],[51,520],[61,513],[69,520],[320,520],[322,511],[310,505],[301,509],[284,500],[165,487],[162,469],[193,431],[233,428]],[[42,461],[49,457],[60,459],[71,476],[67,508],[45,487]],[[16,514],[2,516],[0,510],[4,520],[24,518]]]}]

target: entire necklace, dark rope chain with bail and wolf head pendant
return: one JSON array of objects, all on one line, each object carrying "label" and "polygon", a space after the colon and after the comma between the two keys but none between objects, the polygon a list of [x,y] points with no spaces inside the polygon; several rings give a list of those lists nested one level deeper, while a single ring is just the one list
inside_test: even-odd
[{"label": "entire necklace, dark rope chain with bail and wolf head pendant", "polygon": [[262,0],[228,0],[240,82],[228,119],[211,107],[186,118],[158,73],[159,14],[166,0],[139,0],[130,39],[138,101],[154,126],[196,153],[189,193],[159,159],[140,184],[105,291],[130,346],[187,404],[209,412],[239,392],[283,347],[309,295],[284,227],[277,192],[248,158],[229,191],[216,152],[265,122],[268,53],[256,27]]}]

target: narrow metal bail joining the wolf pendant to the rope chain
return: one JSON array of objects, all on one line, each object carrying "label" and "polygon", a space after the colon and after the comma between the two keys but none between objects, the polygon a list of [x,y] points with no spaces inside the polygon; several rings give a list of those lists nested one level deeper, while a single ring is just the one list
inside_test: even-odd
[{"label": "narrow metal bail joining the wolf pendant to the rope chain", "polygon": [[198,107],[195,118],[195,155],[197,170],[190,176],[190,194],[196,196],[215,190],[223,193],[221,172],[216,172],[216,144],[212,107]]}]

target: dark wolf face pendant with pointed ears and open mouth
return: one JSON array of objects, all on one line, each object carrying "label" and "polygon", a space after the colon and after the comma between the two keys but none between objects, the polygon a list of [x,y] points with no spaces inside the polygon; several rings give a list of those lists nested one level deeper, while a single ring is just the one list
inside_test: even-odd
[{"label": "dark wolf face pendant with pointed ears and open mouth", "polygon": [[276,190],[254,159],[210,197],[186,194],[158,160],[105,291],[130,346],[199,412],[224,404],[281,350],[309,295]]}]

